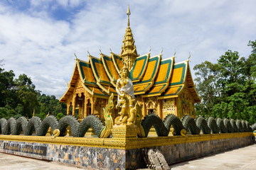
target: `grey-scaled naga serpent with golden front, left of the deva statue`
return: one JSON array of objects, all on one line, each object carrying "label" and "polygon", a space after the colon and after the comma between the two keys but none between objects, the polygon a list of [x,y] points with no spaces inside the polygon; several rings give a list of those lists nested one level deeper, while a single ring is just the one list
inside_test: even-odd
[{"label": "grey-scaled naga serpent with golden front, left of the deva statue", "polygon": [[4,135],[32,135],[36,132],[38,136],[45,136],[50,128],[53,135],[65,136],[68,126],[70,127],[73,137],[83,137],[87,130],[92,127],[97,137],[110,137],[113,127],[113,120],[111,110],[114,107],[113,94],[109,98],[107,106],[104,108],[105,126],[99,118],[95,115],[87,115],[81,123],[73,115],[66,115],[58,122],[57,118],[49,115],[43,121],[38,116],[34,116],[30,120],[21,116],[17,120],[15,118],[1,118],[0,120],[0,134]]}]

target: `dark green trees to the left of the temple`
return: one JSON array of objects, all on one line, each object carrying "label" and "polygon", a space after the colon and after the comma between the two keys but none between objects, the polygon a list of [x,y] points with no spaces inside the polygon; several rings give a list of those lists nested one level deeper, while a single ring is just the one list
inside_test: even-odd
[{"label": "dark green trees to the left of the temple", "polygon": [[36,91],[30,77],[21,74],[15,79],[12,70],[6,72],[4,60],[0,60],[0,116],[1,118],[19,118],[25,116],[31,118],[33,111],[41,119],[46,118],[47,113],[57,115],[66,113],[66,106],[60,103],[55,96],[46,96]]}]

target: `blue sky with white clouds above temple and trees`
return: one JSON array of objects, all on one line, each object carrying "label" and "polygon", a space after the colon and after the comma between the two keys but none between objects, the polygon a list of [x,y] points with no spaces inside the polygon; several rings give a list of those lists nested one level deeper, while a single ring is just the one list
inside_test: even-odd
[{"label": "blue sky with white clouds above temple and trees", "polygon": [[31,77],[42,94],[63,96],[75,66],[75,54],[88,60],[121,52],[130,27],[139,55],[187,60],[190,67],[217,62],[227,50],[248,57],[256,40],[254,0],[1,0],[0,60],[16,77]]}]

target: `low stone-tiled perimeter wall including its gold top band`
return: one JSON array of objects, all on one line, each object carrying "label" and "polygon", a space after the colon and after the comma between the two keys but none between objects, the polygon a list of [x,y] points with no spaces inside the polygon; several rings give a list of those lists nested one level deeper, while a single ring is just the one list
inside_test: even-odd
[{"label": "low stone-tiled perimeter wall including its gold top band", "polygon": [[[35,140],[38,142],[33,142]],[[50,137],[0,135],[0,152],[96,169],[145,168],[142,157],[145,148],[159,149],[168,164],[174,164],[251,144],[252,132],[144,137],[125,143],[112,138],[57,137],[52,140]]]}]

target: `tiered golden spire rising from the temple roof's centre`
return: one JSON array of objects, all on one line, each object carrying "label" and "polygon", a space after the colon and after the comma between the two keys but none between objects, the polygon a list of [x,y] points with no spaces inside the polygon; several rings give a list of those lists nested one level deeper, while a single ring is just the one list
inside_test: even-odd
[{"label": "tiered golden spire rising from the temple roof's centre", "polygon": [[122,45],[122,52],[120,56],[123,58],[125,64],[127,65],[128,69],[132,69],[132,66],[136,60],[136,58],[139,56],[137,54],[136,46],[134,45],[134,38],[132,35],[132,30],[129,27],[129,15],[131,15],[131,12],[129,10],[129,4],[127,8],[127,16],[128,16],[128,22],[127,22],[127,29],[125,30],[124,34],[124,40]]}]

